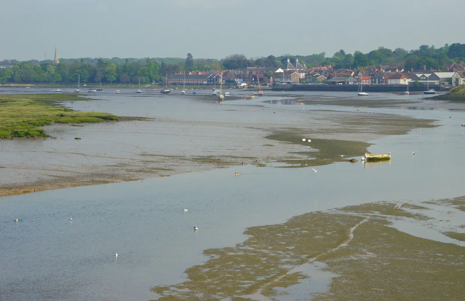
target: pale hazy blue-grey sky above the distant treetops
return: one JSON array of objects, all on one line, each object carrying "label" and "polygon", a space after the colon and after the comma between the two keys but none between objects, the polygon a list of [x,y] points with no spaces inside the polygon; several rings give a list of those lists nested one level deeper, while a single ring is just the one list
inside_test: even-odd
[{"label": "pale hazy blue-grey sky above the distant treetops", "polygon": [[458,0],[2,0],[0,60],[307,55],[465,43]]}]

